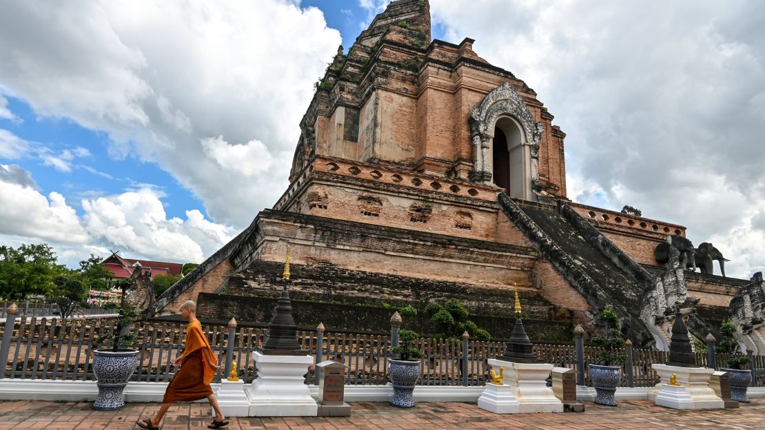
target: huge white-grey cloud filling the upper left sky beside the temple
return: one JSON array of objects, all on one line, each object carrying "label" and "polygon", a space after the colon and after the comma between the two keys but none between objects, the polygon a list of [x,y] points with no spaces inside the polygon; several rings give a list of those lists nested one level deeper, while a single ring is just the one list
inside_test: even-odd
[{"label": "huge white-grey cloud filling the upper left sky beside the temple", "polygon": [[110,155],[158,163],[242,229],[284,191],[313,83],[341,42],[295,3],[8,4],[0,93],[108,132]]}]

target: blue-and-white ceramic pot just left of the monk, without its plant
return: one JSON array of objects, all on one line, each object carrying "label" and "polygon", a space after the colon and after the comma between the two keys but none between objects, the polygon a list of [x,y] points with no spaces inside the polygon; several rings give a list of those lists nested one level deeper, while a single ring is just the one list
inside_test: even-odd
[{"label": "blue-and-white ceramic pot just left of the monk, without its plant", "polygon": [[91,406],[99,411],[113,411],[125,407],[122,390],[128,385],[138,362],[137,350],[96,350],[93,357],[93,373],[96,374],[98,397]]}]

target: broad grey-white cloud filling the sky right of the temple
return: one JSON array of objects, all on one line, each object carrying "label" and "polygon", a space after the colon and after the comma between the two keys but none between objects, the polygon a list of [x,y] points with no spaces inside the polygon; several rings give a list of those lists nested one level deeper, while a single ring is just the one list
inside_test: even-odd
[{"label": "broad grey-white cloud filling the sky right of the temple", "polygon": [[688,227],[765,266],[765,4],[431,0],[447,38],[525,80],[566,132],[569,197]]}]

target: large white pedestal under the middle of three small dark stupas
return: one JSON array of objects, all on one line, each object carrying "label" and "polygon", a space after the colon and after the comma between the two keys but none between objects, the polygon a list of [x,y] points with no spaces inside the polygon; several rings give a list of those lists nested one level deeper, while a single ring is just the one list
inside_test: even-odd
[{"label": "large white pedestal under the middle of three small dark stupas", "polygon": [[505,368],[502,383],[513,390],[513,396],[519,403],[519,413],[563,412],[563,402],[547,386],[546,380],[555,367],[552,364],[513,363],[491,358],[489,365],[497,374],[500,367]]}]

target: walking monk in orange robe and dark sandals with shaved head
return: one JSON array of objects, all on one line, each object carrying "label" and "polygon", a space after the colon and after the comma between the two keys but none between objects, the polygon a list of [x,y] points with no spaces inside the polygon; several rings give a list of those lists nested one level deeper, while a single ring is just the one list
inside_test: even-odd
[{"label": "walking monk in orange robe and dark sandals with shaved head", "polygon": [[210,389],[210,381],[213,380],[216,370],[218,370],[218,360],[210,349],[207,337],[202,333],[202,324],[197,320],[194,314],[197,305],[194,301],[187,301],[181,305],[181,315],[184,320],[189,321],[186,329],[186,350],[173,362],[174,366],[181,366],[177,370],[173,380],[170,381],[168,389],[164,392],[162,407],[157,415],[151,419],[139,419],[135,422],[141,428],[156,430],[159,428],[165,412],[168,412],[174,402],[194,402],[194,400],[204,399],[210,401],[210,405],[215,409],[216,420],[208,425],[207,428],[221,428],[228,425],[223,412],[220,412],[218,401]]}]

